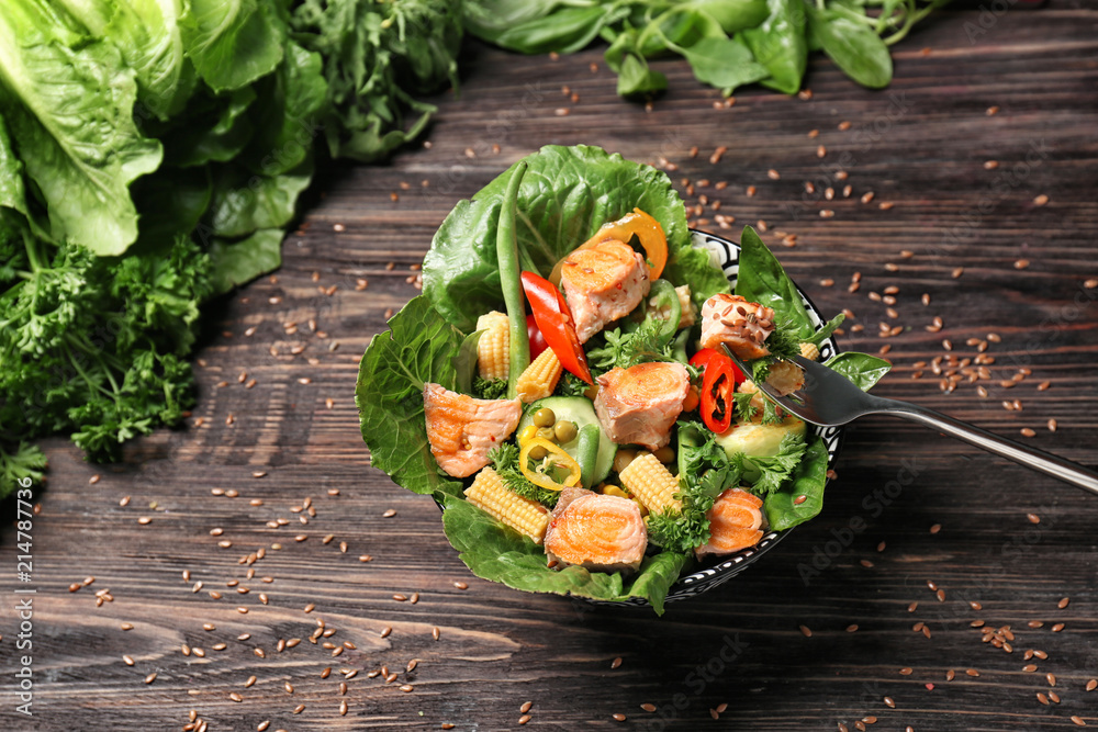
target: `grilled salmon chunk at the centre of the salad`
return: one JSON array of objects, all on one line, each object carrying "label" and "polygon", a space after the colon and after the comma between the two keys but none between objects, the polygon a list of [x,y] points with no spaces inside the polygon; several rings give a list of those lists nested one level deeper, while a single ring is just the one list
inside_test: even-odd
[{"label": "grilled salmon chunk at the centre of the salad", "polygon": [[595,414],[618,444],[659,450],[671,441],[671,426],[683,410],[690,374],[682,363],[641,363],[598,376]]}]

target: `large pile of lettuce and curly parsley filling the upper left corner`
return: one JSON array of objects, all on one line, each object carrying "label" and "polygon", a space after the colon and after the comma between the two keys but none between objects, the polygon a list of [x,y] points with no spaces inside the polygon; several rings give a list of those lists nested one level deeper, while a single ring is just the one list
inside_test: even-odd
[{"label": "large pile of lettuce and curly parsley filling the upper left corner", "polygon": [[4,2],[0,492],[36,437],[177,424],[199,306],[280,264],[317,154],[423,129],[461,34],[458,0]]}]

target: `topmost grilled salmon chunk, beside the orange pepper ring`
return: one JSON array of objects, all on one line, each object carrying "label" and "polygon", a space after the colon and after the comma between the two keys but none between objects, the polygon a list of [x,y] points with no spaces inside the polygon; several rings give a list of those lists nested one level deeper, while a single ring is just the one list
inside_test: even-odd
[{"label": "topmost grilled salmon chunk, beside the orange pepper ring", "polygon": [[643,257],[628,244],[607,239],[570,254],[560,270],[560,286],[575,320],[575,336],[585,344],[639,305],[652,283]]}]

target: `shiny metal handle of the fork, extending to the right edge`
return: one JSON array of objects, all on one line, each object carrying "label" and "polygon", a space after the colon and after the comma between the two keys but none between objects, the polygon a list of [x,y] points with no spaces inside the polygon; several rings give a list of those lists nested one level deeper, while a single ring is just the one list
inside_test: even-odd
[{"label": "shiny metal handle of the fork, extending to the right edge", "polygon": [[1098,494],[1098,473],[1043,450],[1037,450],[1021,442],[1015,442],[998,435],[993,435],[985,429],[974,427],[960,419],[954,419],[940,412],[895,399],[879,399],[878,408],[874,409],[874,412],[892,414],[897,417],[922,423],[940,432],[945,432],[950,437],[964,440],[976,447],[984,448],[988,452],[1009,458],[1022,465],[1039,470],[1053,477],[1058,477],[1061,481],[1066,481],[1080,488]]}]

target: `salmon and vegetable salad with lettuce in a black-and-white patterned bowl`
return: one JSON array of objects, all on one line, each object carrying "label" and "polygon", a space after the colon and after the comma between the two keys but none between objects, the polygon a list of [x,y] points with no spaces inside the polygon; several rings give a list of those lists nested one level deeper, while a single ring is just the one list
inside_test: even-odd
[{"label": "salmon and vegetable salad with lettuce in a black-and-white patterned bowl", "polygon": [[662,612],[820,511],[838,431],[754,384],[795,391],[800,354],[872,386],[841,322],[750,227],[691,232],[663,172],[547,146],[442,223],[362,357],[362,436],[478,576]]}]

